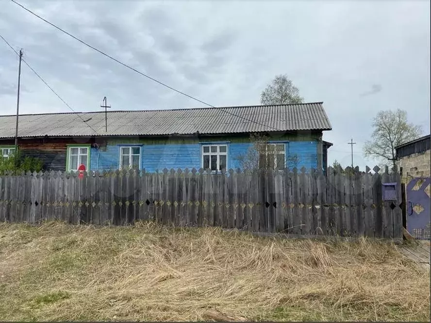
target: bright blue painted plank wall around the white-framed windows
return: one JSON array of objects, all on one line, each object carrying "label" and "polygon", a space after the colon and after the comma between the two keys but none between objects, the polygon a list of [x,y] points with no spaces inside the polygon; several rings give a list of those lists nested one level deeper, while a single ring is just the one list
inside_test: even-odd
[{"label": "bright blue painted plank wall around the white-framed windows", "polygon": [[[119,166],[119,147],[121,140],[115,143],[108,143],[106,149],[91,148],[90,169],[110,170]],[[315,141],[290,141],[284,142],[286,159],[289,155],[298,156],[298,168],[316,168],[317,166],[317,142]],[[201,145],[191,144],[142,144],[139,140],[131,142],[124,140],[123,145],[141,146],[141,168],[148,172],[155,172],[163,168],[196,168],[201,167]],[[237,157],[246,155],[251,143],[229,143],[228,145],[228,168],[239,168],[240,162]],[[286,163],[287,164],[287,163]]]}]

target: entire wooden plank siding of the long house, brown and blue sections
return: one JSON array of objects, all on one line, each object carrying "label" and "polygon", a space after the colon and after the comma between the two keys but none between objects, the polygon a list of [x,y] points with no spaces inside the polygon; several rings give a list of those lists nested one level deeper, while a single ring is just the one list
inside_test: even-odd
[{"label": "entire wooden plank siding of the long house, brown and blue sections", "polygon": [[[296,154],[297,167],[317,168],[322,163],[319,156],[319,142],[322,131],[267,134],[269,142],[285,144],[286,158]],[[0,140],[1,145],[13,144],[13,140]],[[74,137],[74,138],[28,138],[19,139],[22,156],[42,159],[46,170],[66,170],[67,145],[91,145],[89,170],[112,170],[119,168],[121,145],[140,145],[140,167],[148,172],[164,168],[201,168],[201,146],[203,143],[226,143],[228,145],[227,167],[240,168],[238,157],[246,155],[252,147],[249,134],[196,135],[171,137]],[[96,144],[96,145],[95,145]]]}]

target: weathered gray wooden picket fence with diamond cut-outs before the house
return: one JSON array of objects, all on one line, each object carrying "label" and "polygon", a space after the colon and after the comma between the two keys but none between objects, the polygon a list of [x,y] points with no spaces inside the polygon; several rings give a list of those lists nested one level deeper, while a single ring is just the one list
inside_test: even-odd
[{"label": "weathered gray wooden picket fence with diamond cut-outs before the house", "polygon": [[[368,169],[368,168],[367,168]],[[369,169],[368,169],[369,170]],[[0,176],[0,220],[222,226],[255,232],[402,238],[398,173],[61,172]],[[382,182],[397,200],[382,201]]]}]

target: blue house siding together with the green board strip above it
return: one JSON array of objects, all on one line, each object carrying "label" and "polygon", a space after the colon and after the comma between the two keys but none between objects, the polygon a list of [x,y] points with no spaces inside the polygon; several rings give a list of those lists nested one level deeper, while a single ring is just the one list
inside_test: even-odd
[{"label": "blue house siding together with the green board strip above it", "polygon": [[[291,138],[291,137],[290,137]],[[284,143],[286,158],[298,156],[298,168],[317,168],[317,141],[287,141],[282,137],[270,138],[269,142]],[[115,138],[108,140],[99,150],[91,148],[90,169],[117,169],[120,161],[120,146],[139,145],[141,147],[140,168],[148,172],[161,171],[163,168],[202,167],[201,146],[203,143],[226,144],[228,146],[228,168],[240,168],[239,156],[246,155],[253,146],[249,137],[206,137],[206,138]],[[322,165],[323,166],[323,165]]]}]

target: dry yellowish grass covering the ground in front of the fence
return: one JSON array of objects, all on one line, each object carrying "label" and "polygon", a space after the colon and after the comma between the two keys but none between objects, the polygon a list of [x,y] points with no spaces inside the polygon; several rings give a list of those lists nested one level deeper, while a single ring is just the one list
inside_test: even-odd
[{"label": "dry yellowish grass covering the ground in front of the fence", "polygon": [[393,244],[218,228],[0,224],[3,321],[429,321],[429,272]]}]

